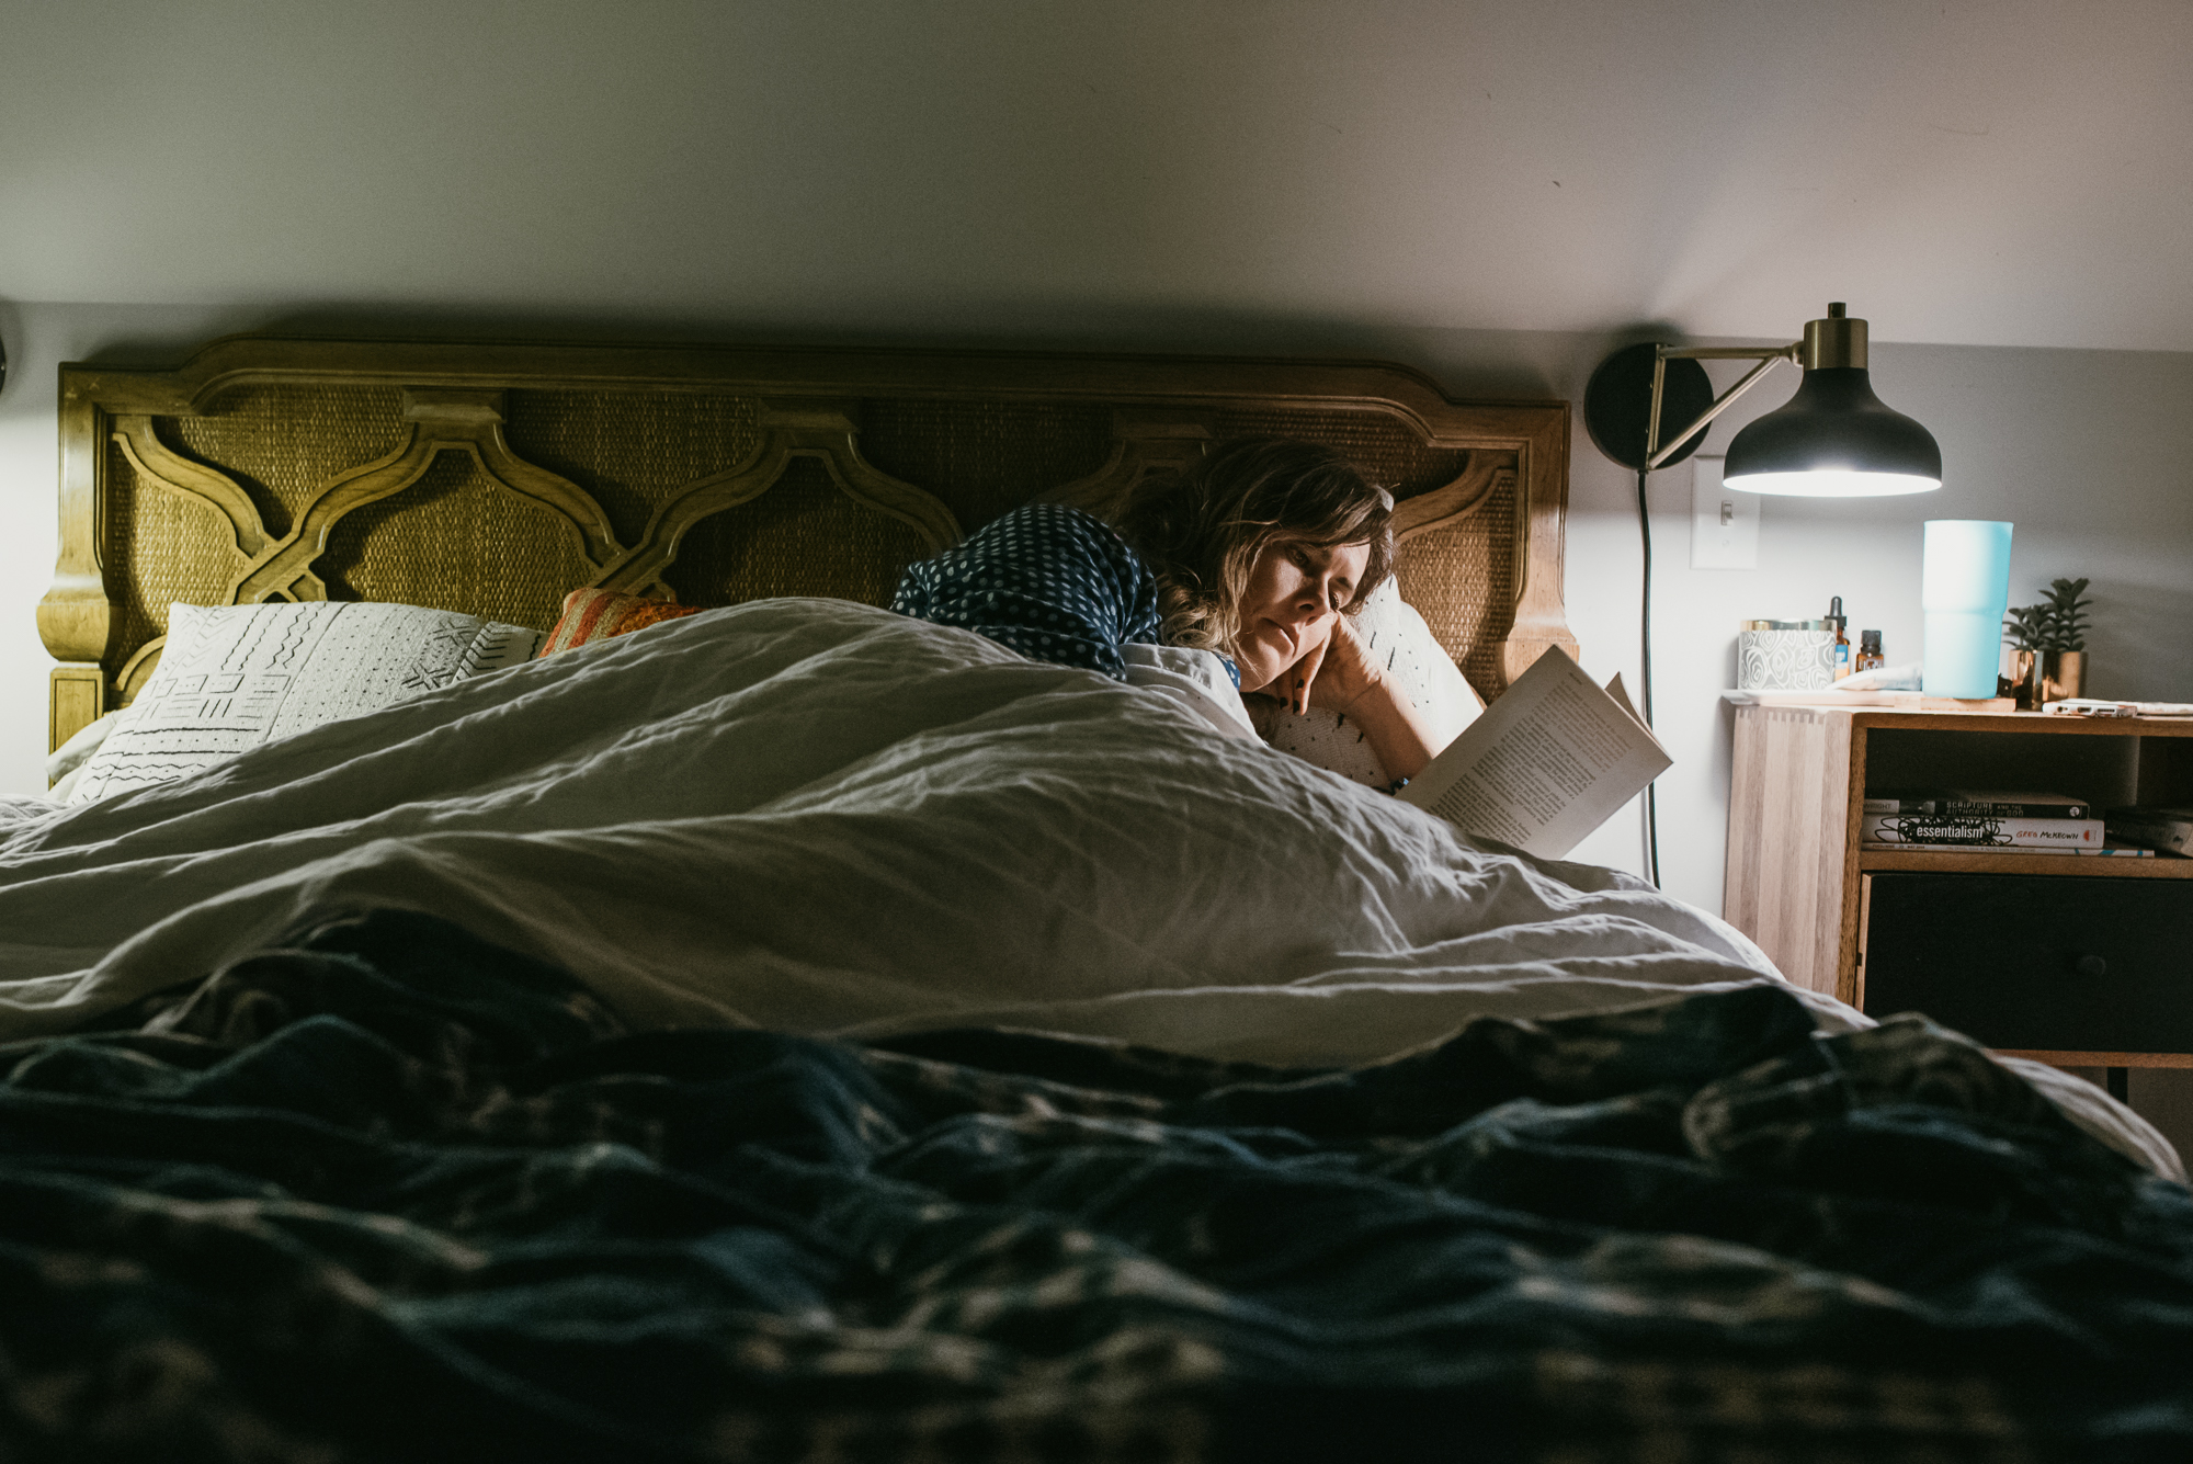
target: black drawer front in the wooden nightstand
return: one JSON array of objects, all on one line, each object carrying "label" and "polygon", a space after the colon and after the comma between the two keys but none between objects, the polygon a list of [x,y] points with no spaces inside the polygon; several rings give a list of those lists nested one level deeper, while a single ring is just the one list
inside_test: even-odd
[{"label": "black drawer front in the wooden nightstand", "polygon": [[1873,874],[1862,940],[1871,1017],[1925,1013],[1991,1048],[2193,1052],[2193,881]]}]

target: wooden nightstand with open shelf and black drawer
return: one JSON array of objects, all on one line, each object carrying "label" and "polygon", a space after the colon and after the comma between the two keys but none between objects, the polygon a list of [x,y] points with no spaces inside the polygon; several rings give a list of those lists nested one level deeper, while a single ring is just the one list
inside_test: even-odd
[{"label": "wooden nightstand with open shelf and black drawer", "polygon": [[1868,787],[2193,804],[2193,719],[1735,712],[1724,914],[1783,975],[2064,1067],[2193,1067],[2193,859],[1857,846]]}]

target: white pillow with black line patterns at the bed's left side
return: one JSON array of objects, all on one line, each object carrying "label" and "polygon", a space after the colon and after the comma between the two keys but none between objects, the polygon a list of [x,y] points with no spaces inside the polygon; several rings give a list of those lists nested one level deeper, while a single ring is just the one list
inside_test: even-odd
[{"label": "white pillow with black line patterns at the bed's left side", "polygon": [[542,633],[417,605],[171,605],[160,668],[68,802],[189,778],[292,732],[533,660]]}]

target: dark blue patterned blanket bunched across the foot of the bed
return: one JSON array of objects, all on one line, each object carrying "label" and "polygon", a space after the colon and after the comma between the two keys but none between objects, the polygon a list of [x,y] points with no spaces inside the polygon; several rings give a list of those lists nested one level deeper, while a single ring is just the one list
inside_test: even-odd
[{"label": "dark blue patterned blanket bunched across the foot of the bed", "polygon": [[2193,1457],[2186,1190],[1768,986],[1279,1072],[375,914],[0,1052],[9,1460]]}]

